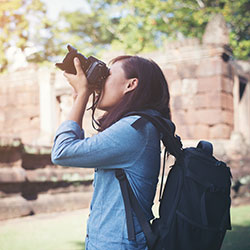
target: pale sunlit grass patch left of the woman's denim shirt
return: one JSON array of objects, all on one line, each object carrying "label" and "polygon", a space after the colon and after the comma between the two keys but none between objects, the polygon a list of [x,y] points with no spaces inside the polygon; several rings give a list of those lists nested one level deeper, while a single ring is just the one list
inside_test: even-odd
[{"label": "pale sunlit grass patch left of the woman's denim shirt", "polygon": [[83,250],[88,210],[0,222],[0,250]]}]

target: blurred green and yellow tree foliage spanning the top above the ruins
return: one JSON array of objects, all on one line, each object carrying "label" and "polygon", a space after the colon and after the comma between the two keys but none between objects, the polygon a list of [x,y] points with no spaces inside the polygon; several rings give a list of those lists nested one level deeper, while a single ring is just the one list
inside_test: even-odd
[{"label": "blurred green and yellow tree foliage spanning the top above the ruins", "polygon": [[[72,44],[86,56],[107,48],[126,53],[152,51],[166,40],[202,38],[215,13],[230,29],[230,46],[237,59],[250,55],[249,0],[88,0],[90,11],[62,12],[49,20],[41,0],[1,1],[0,72],[7,67],[6,51],[35,48],[29,61],[58,61]],[[61,59],[59,59],[61,60]]]}]

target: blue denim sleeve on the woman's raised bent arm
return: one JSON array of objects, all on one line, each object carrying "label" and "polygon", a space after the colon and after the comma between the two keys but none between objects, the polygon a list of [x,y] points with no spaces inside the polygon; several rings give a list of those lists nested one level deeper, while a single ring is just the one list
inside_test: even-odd
[{"label": "blue denim sleeve on the woman's raised bent arm", "polygon": [[52,149],[54,164],[86,168],[126,168],[146,147],[146,136],[130,124],[137,117],[126,117],[103,132],[82,138],[76,122],[66,121],[58,129]]}]

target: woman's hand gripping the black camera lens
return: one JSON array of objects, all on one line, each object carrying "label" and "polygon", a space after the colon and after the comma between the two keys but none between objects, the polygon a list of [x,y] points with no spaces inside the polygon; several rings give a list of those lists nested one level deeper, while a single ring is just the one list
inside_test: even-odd
[{"label": "woman's hand gripping the black camera lens", "polygon": [[73,87],[77,96],[90,95],[93,91],[89,89],[88,80],[81,68],[81,63],[77,57],[74,58],[76,75],[64,72],[63,75],[67,78],[69,84]]}]

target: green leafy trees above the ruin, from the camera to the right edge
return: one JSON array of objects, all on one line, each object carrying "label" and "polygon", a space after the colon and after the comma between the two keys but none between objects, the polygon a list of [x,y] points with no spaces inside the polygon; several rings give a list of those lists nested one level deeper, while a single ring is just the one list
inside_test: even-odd
[{"label": "green leafy trees above the ruin, from the camera to the right edge", "polygon": [[[202,38],[215,13],[222,13],[230,29],[236,58],[250,54],[249,0],[89,0],[91,13],[63,13],[81,45],[98,51],[109,44],[128,53],[153,50],[178,36]],[[77,39],[76,36],[81,37]],[[91,49],[90,49],[91,50]]]}]

